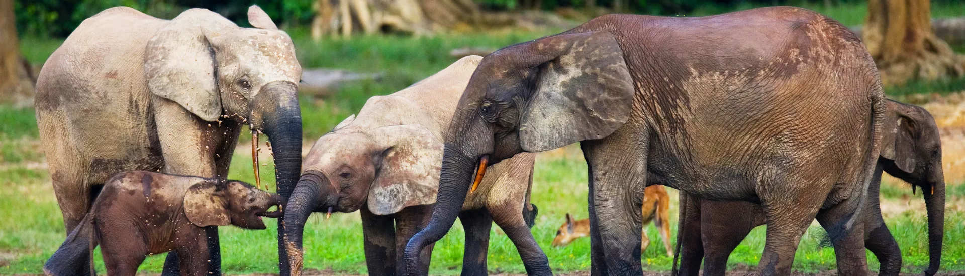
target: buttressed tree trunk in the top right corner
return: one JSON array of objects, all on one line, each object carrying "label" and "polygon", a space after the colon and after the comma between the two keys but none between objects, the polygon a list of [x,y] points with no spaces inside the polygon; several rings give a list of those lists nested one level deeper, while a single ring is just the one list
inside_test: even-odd
[{"label": "buttressed tree trunk in the top right corner", "polygon": [[965,76],[965,57],[932,32],[928,0],[869,0],[863,40],[885,84]]}]

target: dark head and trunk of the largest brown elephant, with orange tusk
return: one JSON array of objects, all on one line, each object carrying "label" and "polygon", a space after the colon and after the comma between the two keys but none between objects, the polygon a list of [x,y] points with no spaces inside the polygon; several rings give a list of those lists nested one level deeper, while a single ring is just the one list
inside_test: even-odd
[{"label": "dark head and trunk of the largest brown elephant, with orange tusk", "polygon": [[484,57],[446,132],[436,206],[405,248],[409,269],[449,232],[487,165],[606,137],[628,120],[633,95],[622,50],[608,31],[550,36]]}]

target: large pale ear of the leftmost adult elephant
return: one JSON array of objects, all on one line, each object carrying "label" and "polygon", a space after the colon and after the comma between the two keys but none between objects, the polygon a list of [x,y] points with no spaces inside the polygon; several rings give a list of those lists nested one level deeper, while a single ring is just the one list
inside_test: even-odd
[{"label": "large pale ear of the leftmost adult elephant", "polygon": [[221,116],[214,50],[197,17],[192,16],[207,10],[194,10],[172,19],[148,41],[145,78],[152,94],[174,100],[202,120],[214,122]]}]

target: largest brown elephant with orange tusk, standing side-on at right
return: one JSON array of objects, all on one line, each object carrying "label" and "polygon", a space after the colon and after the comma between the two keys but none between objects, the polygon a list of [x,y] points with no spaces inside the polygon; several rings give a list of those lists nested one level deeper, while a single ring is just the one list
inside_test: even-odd
[{"label": "largest brown elephant with orange tusk, standing side-on at right", "polygon": [[[860,275],[857,218],[880,151],[880,83],[854,33],[796,7],[607,14],[502,48],[459,99],[432,218],[406,245],[406,266],[446,235],[485,166],[580,142],[593,275],[643,273],[641,195],[656,183],[764,206],[774,227],[761,274],[790,273],[816,216],[834,226],[838,263],[851,264],[841,273]],[[860,250],[839,246],[853,240]],[[522,260],[528,274],[548,270]]]}]

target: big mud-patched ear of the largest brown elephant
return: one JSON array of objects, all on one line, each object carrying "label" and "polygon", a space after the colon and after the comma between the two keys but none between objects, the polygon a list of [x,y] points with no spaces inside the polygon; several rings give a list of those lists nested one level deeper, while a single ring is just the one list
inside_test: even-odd
[{"label": "big mud-patched ear of the largest brown elephant", "polygon": [[520,124],[526,152],[606,137],[626,123],[634,89],[623,51],[608,31],[533,41],[546,59]]}]

